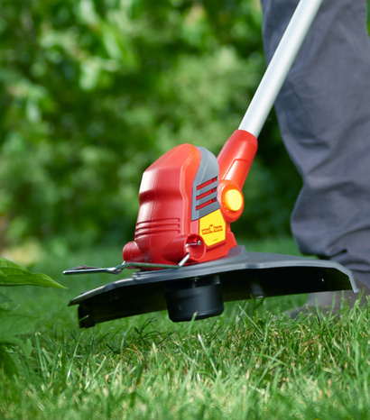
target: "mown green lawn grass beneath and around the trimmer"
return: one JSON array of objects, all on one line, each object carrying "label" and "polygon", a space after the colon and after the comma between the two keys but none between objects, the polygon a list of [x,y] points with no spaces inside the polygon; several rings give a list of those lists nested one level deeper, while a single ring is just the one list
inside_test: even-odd
[{"label": "mown green lawn grass beneath and around the trimmer", "polygon": [[[291,240],[247,249],[297,253]],[[23,349],[10,349],[19,375],[0,378],[0,418],[370,418],[370,305],[292,321],[277,315],[305,297],[281,297],[228,303],[193,323],[162,312],[79,330],[69,299],[116,277],[60,271],[119,258],[116,249],[43,253],[32,270],[69,290],[7,292],[40,317]]]}]

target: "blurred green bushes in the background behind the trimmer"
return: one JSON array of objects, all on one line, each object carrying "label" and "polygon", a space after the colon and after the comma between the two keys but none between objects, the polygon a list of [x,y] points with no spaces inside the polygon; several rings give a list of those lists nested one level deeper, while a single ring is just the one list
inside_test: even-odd
[{"label": "blurred green bushes in the background behind the trimmer", "polygon": [[[258,0],[2,0],[0,249],[124,244],[141,175],[182,142],[215,154],[264,72]],[[301,180],[273,115],[245,237],[289,233]]]}]

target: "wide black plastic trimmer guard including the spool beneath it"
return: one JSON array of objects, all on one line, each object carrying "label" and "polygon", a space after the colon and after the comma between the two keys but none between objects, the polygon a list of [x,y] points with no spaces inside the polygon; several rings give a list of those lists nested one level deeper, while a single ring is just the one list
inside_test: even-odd
[{"label": "wide black plastic trimmer guard including the spool beneath it", "polygon": [[135,272],[75,297],[79,326],[168,310],[174,322],[222,314],[224,302],[318,291],[358,291],[350,270],[337,262],[247,252],[236,246],[227,257],[202,264]]}]

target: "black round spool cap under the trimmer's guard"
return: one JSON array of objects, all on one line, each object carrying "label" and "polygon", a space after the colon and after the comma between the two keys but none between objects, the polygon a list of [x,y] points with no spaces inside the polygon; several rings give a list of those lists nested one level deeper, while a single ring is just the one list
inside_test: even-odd
[{"label": "black round spool cap under the trimmer's guard", "polygon": [[191,321],[195,314],[195,319],[204,319],[224,312],[218,276],[171,282],[165,297],[170,319],[174,323]]}]

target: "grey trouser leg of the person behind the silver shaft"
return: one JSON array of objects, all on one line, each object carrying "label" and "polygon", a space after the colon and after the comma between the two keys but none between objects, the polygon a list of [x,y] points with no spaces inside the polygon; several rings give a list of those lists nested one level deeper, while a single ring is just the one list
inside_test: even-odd
[{"label": "grey trouser leg of the person behind the silver shaft", "polygon": [[[262,0],[273,51],[298,0]],[[299,249],[370,286],[370,41],[365,0],[324,0],[275,105],[303,187],[291,215]],[[289,187],[289,186],[287,186]]]}]

